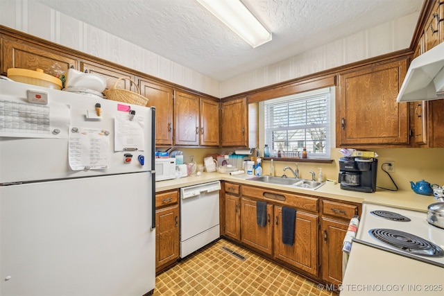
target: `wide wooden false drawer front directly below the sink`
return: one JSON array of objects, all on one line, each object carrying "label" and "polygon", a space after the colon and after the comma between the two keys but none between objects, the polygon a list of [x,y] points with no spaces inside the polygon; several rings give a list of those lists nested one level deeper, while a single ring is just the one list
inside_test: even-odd
[{"label": "wide wooden false drawer front directly below the sink", "polygon": [[242,186],[242,196],[257,198],[259,200],[272,201],[287,207],[305,209],[307,211],[318,211],[318,198],[313,198],[286,191],[264,189],[261,187]]}]

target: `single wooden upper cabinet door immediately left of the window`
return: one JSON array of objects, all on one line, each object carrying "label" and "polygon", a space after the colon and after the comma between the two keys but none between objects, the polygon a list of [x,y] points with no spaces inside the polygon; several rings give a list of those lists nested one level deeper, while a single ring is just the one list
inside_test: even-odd
[{"label": "single wooden upper cabinet door immediately left of the window", "polygon": [[247,99],[223,102],[221,115],[221,141],[223,147],[247,147]]}]

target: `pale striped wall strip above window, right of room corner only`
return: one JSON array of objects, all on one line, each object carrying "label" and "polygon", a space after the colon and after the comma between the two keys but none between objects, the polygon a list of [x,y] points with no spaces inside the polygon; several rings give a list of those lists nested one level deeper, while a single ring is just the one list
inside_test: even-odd
[{"label": "pale striped wall strip above window, right of room corner only", "polygon": [[268,67],[225,80],[221,86],[221,97],[273,85],[384,53],[407,49],[410,46],[418,16],[419,12],[416,12],[319,46]]}]

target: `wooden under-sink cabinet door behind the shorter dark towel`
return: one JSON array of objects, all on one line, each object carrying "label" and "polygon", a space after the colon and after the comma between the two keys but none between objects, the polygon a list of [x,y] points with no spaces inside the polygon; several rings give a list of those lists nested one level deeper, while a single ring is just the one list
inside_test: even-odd
[{"label": "wooden under-sink cabinet door behind the shorter dark towel", "polygon": [[273,204],[267,204],[265,227],[257,225],[256,201],[248,198],[241,199],[241,241],[266,254],[273,254]]}]

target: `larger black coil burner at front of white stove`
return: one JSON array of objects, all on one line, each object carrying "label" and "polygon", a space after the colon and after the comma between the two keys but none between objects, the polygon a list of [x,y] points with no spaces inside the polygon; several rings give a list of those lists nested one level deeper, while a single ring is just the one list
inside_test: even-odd
[{"label": "larger black coil burner at front of white stove", "polygon": [[443,257],[444,250],[419,236],[395,229],[375,228],[368,233],[377,241],[420,256]]}]

